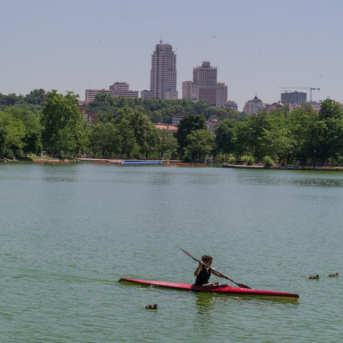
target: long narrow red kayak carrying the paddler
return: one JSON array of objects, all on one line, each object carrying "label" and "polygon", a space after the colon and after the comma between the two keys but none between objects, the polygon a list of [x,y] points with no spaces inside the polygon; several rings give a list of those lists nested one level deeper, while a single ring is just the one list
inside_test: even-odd
[{"label": "long narrow red kayak carrying the paddler", "polygon": [[137,279],[125,279],[125,278],[121,278],[119,282],[129,283],[129,284],[134,284],[134,285],[142,285],[142,286],[145,285],[145,286],[163,287],[167,289],[178,289],[182,291],[211,292],[211,293],[218,293],[218,294],[219,293],[232,294],[235,296],[262,296],[263,298],[268,297],[268,298],[285,298],[289,300],[299,300],[298,294],[263,291],[261,289],[230,287],[228,285],[206,287],[206,286],[193,286],[190,283],[174,283],[174,282],[137,280]]}]

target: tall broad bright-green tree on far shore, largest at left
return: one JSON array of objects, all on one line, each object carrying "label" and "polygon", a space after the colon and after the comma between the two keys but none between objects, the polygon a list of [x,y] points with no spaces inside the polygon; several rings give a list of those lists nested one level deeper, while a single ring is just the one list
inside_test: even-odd
[{"label": "tall broad bright-green tree on far shore, largest at left", "polygon": [[84,118],[78,106],[78,95],[48,92],[43,108],[43,145],[49,154],[74,157],[80,153]]}]

